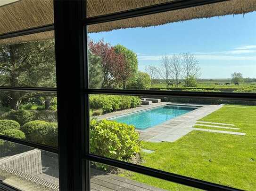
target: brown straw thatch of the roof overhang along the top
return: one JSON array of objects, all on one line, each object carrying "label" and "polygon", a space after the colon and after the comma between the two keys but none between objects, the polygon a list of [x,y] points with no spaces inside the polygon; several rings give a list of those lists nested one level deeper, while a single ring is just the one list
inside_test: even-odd
[{"label": "brown straw thatch of the roof overhang along the top", "polygon": [[[87,15],[105,15],[172,0],[88,0]],[[256,10],[256,0],[230,0],[121,21],[90,25],[88,32],[157,26],[213,16],[245,14]],[[0,7],[0,34],[53,23],[53,0],[19,0]],[[0,44],[53,38],[53,32],[0,40]]]}]

